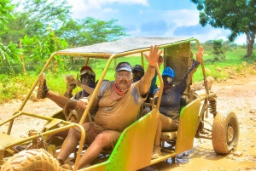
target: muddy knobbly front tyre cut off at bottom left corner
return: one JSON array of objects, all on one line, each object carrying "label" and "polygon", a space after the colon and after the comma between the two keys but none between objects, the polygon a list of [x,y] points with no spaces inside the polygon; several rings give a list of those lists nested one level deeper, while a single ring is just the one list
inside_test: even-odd
[{"label": "muddy knobbly front tyre cut off at bottom left corner", "polygon": [[20,151],[10,157],[2,171],[61,171],[60,163],[44,149]]}]

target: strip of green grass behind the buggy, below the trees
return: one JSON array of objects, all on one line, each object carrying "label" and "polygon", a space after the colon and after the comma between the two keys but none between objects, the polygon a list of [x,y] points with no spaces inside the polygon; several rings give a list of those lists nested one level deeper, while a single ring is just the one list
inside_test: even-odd
[{"label": "strip of green grass behind the buggy, below the trees", "polygon": [[[194,51],[194,50],[193,50]],[[210,51],[206,51],[205,54],[210,54]],[[246,49],[244,48],[233,48],[226,52],[225,60],[213,60],[214,57],[212,55],[204,56],[204,66],[207,76],[214,77],[215,80],[224,80],[229,79],[230,73],[236,76],[243,76],[245,74],[256,74],[256,55],[250,59],[245,60],[243,58],[244,54],[246,54]],[[195,58],[194,58],[195,59]],[[137,57],[124,57],[117,59],[116,63],[121,61],[129,61],[131,66],[135,66],[136,64],[141,64],[141,58]],[[147,60],[143,59],[145,67],[148,65]],[[49,89],[58,94],[64,94],[66,91],[66,83],[64,81],[64,77],[67,74],[73,74],[75,77],[77,73],[79,73],[80,66],[83,66],[81,62],[74,67],[67,67],[67,71],[61,71],[57,76],[50,71],[46,71],[47,84]],[[96,80],[98,80],[101,75],[103,68],[106,66],[106,60],[92,60],[90,61],[90,66],[96,72]],[[73,69],[70,69],[73,68]],[[219,69],[220,71],[217,71]],[[163,67],[160,68],[160,71],[163,71]],[[9,76],[7,74],[0,74],[0,103],[6,103],[13,99],[23,100],[26,97],[26,94],[29,92],[30,88],[32,88],[32,84],[35,83],[38,77],[38,73],[35,71],[28,71],[26,76],[18,74],[16,76]],[[108,72],[106,73],[105,79],[113,80],[114,79],[114,62],[109,67]],[[198,82],[203,79],[201,66],[199,66],[198,70],[194,74],[193,81]],[[157,81],[159,84],[159,81]],[[75,88],[73,90],[73,94],[80,91],[80,88]],[[32,100],[37,100],[34,97]]]}]

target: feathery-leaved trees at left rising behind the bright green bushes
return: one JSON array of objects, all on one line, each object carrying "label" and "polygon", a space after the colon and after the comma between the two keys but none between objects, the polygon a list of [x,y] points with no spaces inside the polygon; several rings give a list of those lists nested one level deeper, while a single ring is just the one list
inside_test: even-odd
[{"label": "feathery-leaved trees at left rising behind the bright green bushes", "polygon": [[[65,38],[71,47],[102,43],[119,39],[125,28],[115,24],[117,20],[96,20],[87,17],[82,20],[71,19],[71,6],[67,0],[22,0],[15,4],[15,18],[9,20],[9,30],[0,36],[4,44],[19,43],[20,38],[45,37],[47,29],[52,28],[57,37]],[[20,10],[22,9],[22,10]]]}]

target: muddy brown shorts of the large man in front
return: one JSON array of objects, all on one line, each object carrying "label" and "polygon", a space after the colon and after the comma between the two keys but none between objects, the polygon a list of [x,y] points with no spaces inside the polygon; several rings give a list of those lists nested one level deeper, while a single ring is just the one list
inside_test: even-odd
[{"label": "muddy brown shorts of the large man in front", "polygon": [[[108,133],[109,139],[111,140],[111,146],[113,148],[114,145],[119,140],[119,136],[122,134],[122,132],[119,132],[119,131],[108,130],[107,128],[103,128],[102,126],[97,125],[95,122],[92,122],[91,127],[90,127],[90,123],[84,123],[83,126],[85,127],[85,130],[86,130],[85,143],[88,145],[90,145],[96,139],[96,136],[98,134]],[[87,132],[87,130],[89,131]]]}]

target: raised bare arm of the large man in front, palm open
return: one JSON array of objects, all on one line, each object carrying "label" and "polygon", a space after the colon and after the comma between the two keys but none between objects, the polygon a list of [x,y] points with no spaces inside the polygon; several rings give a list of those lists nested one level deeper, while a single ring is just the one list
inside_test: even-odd
[{"label": "raised bare arm of the large man in front, palm open", "polygon": [[159,51],[159,47],[154,45],[154,47],[150,47],[150,52],[148,55],[144,54],[145,58],[148,60],[148,68],[142,79],[139,81],[139,91],[143,97],[148,94],[148,90],[154,77],[155,65],[158,63],[161,53],[162,51]]}]

